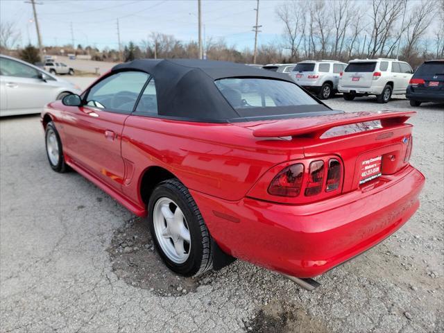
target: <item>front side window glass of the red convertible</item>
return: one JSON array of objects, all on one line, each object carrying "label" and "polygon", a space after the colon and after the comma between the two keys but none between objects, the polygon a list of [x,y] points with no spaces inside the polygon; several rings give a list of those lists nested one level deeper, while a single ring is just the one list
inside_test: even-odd
[{"label": "front side window glass of the red convertible", "polygon": [[148,78],[142,71],[123,71],[108,76],[89,89],[87,105],[130,113]]}]

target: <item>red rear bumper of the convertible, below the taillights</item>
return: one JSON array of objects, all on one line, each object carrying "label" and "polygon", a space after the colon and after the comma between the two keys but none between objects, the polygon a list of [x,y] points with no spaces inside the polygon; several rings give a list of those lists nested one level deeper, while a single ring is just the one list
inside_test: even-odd
[{"label": "red rear bumper of the convertible, below the taillights", "polygon": [[312,278],[375,246],[419,207],[425,178],[411,166],[384,185],[308,205],[191,195],[210,234],[230,255],[298,278]]}]

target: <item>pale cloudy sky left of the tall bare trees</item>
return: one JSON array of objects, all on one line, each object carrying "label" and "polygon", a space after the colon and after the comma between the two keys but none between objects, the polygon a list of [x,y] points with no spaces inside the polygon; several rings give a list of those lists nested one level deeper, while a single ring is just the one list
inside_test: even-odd
[{"label": "pale cloudy sky left of the tall bare trees", "polygon": [[[197,40],[197,0],[36,0],[44,45],[71,44],[71,22],[75,44],[117,48],[117,21],[123,44],[139,43],[153,32],[167,33],[189,42]],[[274,8],[284,1],[259,3],[259,44],[268,44],[282,35],[282,23]],[[206,37],[225,38],[237,49],[253,49],[256,1],[202,1],[202,21]],[[0,19],[13,21],[22,31],[22,43],[37,44],[31,3],[24,0],[0,0]]]}]

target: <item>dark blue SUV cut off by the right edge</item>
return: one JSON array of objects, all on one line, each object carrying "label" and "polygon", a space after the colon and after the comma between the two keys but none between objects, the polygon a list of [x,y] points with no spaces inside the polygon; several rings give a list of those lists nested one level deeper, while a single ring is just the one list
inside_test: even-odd
[{"label": "dark blue SUV cut off by the right edge", "polygon": [[411,106],[444,102],[444,60],[424,62],[413,74],[406,93]]}]

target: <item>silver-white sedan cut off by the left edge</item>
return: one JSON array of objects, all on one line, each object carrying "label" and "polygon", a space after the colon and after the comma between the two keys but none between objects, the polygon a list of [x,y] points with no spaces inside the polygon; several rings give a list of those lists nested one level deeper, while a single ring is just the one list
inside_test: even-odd
[{"label": "silver-white sedan cut off by the left edge", "polygon": [[0,55],[0,117],[40,113],[44,105],[80,87],[22,60]]}]

